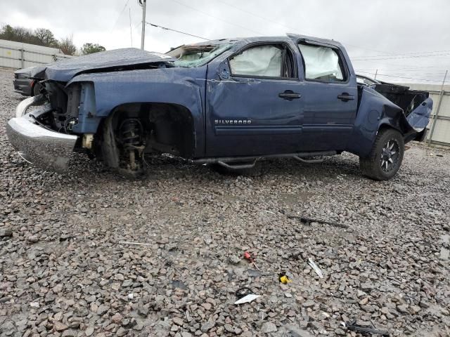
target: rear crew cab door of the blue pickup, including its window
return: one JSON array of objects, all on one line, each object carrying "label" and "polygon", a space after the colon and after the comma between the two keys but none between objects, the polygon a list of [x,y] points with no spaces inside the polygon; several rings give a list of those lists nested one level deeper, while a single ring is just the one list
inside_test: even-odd
[{"label": "rear crew cab door of the blue pickup, including its window", "polygon": [[356,118],[358,88],[335,46],[297,42],[303,60],[302,150],[344,150]]}]

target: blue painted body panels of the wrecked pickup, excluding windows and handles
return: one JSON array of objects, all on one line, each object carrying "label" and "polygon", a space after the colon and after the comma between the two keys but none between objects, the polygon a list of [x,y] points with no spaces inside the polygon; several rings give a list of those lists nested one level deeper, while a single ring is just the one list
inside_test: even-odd
[{"label": "blue painted body panels of the wrecked pickup, excluding windows and handles", "polygon": [[[299,41],[337,49],[347,81],[304,79]],[[295,78],[233,77],[229,57],[263,42],[288,47],[294,57]],[[383,95],[356,84],[349,56],[336,41],[290,34],[210,43],[233,46],[200,67],[174,67],[172,58],[128,48],[57,62],[40,72],[45,71],[47,79],[69,81],[68,86],[82,84],[77,133],[95,133],[104,117],[126,103],[186,107],[194,121],[194,158],[318,150],[348,151],[364,157],[380,127],[396,128],[411,140],[428,124],[432,100],[425,100],[406,119],[401,108]],[[150,69],[155,65],[158,69]],[[118,71],[117,67],[125,69]],[[278,96],[287,91],[299,93],[301,98]],[[354,100],[339,100],[343,93]]]}]

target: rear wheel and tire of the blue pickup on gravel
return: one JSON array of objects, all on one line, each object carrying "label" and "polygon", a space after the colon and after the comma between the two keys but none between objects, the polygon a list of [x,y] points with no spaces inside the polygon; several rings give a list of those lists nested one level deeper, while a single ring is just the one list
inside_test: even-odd
[{"label": "rear wheel and tire of the blue pickup on gravel", "polygon": [[385,128],[378,131],[368,157],[359,157],[359,166],[368,178],[390,180],[399,171],[403,155],[403,136],[393,128]]}]

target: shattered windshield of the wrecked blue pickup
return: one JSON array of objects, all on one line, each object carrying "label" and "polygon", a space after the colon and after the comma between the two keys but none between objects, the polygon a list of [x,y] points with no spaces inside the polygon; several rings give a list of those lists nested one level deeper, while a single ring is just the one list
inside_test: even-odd
[{"label": "shattered windshield of the wrecked blue pickup", "polygon": [[169,51],[166,55],[176,58],[176,67],[200,67],[228,50],[232,44],[185,45]]}]

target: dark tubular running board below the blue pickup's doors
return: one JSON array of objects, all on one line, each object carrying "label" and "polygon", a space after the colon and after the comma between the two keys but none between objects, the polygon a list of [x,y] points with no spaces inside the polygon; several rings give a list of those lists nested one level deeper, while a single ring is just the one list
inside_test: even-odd
[{"label": "dark tubular running board below the blue pickup's doors", "polygon": [[[294,158],[304,163],[314,164],[323,161],[321,159],[304,159],[309,157],[329,157],[338,154],[336,151],[316,151],[316,152],[297,152],[297,153],[285,153],[285,154],[268,154],[260,156],[247,156],[247,157],[213,157],[213,158],[201,158],[194,159],[195,164],[219,164],[227,169],[252,169],[256,162],[260,159],[278,159],[278,158]],[[245,164],[245,161],[250,163]],[[236,163],[236,164],[233,164]]]}]

